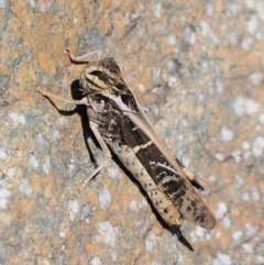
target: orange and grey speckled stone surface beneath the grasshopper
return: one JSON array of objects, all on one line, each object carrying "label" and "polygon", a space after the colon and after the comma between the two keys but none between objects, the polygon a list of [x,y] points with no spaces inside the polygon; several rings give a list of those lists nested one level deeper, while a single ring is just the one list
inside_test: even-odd
[{"label": "orange and grey speckled stone surface beneath the grasshopper", "polygon": [[[261,0],[0,1],[0,264],[264,264],[263,10]],[[184,222],[195,252],[114,161],[78,194],[92,157],[103,159],[85,109],[36,92],[75,97],[82,66],[66,47],[111,51],[157,133],[205,181],[218,223]]]}]

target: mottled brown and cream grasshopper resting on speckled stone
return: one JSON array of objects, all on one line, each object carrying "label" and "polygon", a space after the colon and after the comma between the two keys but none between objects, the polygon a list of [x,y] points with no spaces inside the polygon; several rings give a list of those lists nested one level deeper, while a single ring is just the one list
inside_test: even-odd
[{"label": "mottled brown and cream grasshopper resting on speckled stone", "polygon": [[[84,62],[85,56],[75,57],[69,53],[69,57],[74,62]],[[212,229],[216,219],[195,190],[202,187],[156,135],[133,92],[123,81],[116,60],[109,57],[88,62],[79,85],[84,99],[66,101],[87,106],[91,130],[106,155],[106,161],[90,178],[111,158],[110,147],[142,185],[168,224],[179,225],[186,219],[205,229]]]}]

